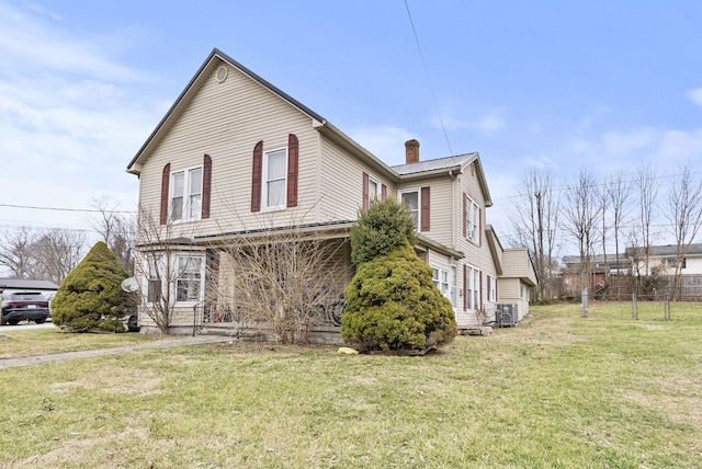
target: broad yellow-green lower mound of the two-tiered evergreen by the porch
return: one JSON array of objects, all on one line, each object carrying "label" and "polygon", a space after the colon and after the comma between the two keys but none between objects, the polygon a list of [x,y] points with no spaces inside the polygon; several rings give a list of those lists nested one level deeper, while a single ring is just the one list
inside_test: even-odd
[{"label": "broad yellow-green lower mound of the two-tiered evergreen by the porch", "polygon": [[341,336],[361,352],[426,351],[451,342],[451,301],[410,244],[361,264],[346,289]]}]

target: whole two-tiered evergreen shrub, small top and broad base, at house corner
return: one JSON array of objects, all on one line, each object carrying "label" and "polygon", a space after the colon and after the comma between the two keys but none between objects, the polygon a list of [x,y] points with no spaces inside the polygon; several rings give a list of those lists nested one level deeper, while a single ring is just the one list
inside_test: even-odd
[{"label": "whole two-tiered evergreen shrub, small top and broad base, at house corner", "polygon": [[428,351],[457,333],[451,301],[417,255],[415,222],[394,199],[359,214],[351,232],[356,273],[346,289],[341,336],[362,352]]}]

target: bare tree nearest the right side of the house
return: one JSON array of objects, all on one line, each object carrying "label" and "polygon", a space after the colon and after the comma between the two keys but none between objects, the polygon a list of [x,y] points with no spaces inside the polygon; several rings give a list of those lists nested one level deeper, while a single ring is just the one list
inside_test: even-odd
[{"label": "bare tree nearest the right side of the house", "polygon": [[521,202],[510,214],[510,224],[526,245],[539,279],[539,296],[553,295],[552,271],[557,247],[559,193],[550,171],[532,169],[522,179]]}]

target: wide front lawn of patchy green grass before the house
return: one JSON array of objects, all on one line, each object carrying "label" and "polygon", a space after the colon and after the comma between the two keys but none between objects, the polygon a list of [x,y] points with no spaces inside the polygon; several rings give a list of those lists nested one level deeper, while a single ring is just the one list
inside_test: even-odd
[{"label": "wide front lawn of patchy green grass before the house", "polygon": [[700,305],[579,314],[421,358],[235,343],[8,368],[0,467],[700,467]]}]

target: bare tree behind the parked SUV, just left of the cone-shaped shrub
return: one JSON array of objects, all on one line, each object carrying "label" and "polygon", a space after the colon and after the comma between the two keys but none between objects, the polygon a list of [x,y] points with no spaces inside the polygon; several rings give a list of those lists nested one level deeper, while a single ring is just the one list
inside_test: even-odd
[{"label": "bare tree behind the parked SUV, just left of the cone-shaped shrub", "polygon": [[33,243],[33,276],[60,285],[82,259],[87,242],[82,231],[53,228],[41,232]]}]

